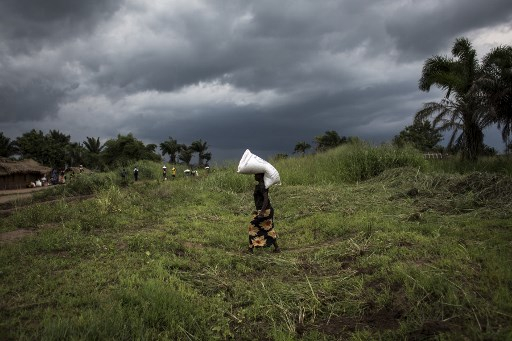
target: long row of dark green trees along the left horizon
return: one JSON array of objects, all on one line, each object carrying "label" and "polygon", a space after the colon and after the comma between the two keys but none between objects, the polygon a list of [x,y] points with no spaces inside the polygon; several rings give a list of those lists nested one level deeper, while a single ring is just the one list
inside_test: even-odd
[{"label": "long row of dark green trees along the left horizon", "polygon": [[117,135],[104,144],[99,137],[87,137],[82,143],[71,142],[71,136],[58,130],[50,130],[44,134],[41,130],[24,133],[11,140],[0,132],[0,156],[19,156],[21,159],[34,159],[37,162],[54,168],[85,165],[90,169],[106,170],[125,166],[138,160],[161,161],[162,156],[169,156],[169,162],[185,163],[190,166],[195,153],[198,155],[198,166],[208,164],[211,153],[208,143],[197,140],[190,145],[180,144],[172,137],[160,143],[162,155],[156,152],[156,144],[144,144],[129,133]]}]

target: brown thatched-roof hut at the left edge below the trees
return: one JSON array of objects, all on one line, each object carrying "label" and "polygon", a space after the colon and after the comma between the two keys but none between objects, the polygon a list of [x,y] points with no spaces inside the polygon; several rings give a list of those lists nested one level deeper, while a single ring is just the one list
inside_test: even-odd
[{"label": "brown thatched-roof hut at the left edge below the trees", "polygon": [[0,189],[28,187],[31,182],[50,175],[51,168],[32,159],[14,161],[0,158]]}]

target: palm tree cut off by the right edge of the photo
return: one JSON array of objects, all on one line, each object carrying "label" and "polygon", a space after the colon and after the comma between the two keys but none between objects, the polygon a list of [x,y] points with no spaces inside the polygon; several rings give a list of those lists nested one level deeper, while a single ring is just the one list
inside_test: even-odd
[{"label": "palm tree cut off by the right edge of the photo", "polygon": [[501,137],[508,145],[512,133],[512,46],[499,46],[484,57],[477,84],[491,120],[502,129]]}]

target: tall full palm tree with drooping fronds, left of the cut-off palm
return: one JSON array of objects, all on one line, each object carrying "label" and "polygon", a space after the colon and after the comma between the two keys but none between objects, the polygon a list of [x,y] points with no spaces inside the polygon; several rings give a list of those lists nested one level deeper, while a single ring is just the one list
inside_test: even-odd
[{"label": "tall full palm tree with drooping fronds, left of the cut-off palm", "polygon": [[[434,56],[425,61],[420,90],[429,91],[435,85],[446,94],[439,102],[425,103],[416,118],[424,120],[437,113],[434,127],[441,131],[453,129],[448,148],[456,141],[462,148],[464,159],[476,160],[483,150],[482,130],[490,124],[482,96],[475,91],[480,67],[476,51],[466,38],[455,40],[452,54],[454,58]],[[459,131],[461,134],[457,135]]]}]

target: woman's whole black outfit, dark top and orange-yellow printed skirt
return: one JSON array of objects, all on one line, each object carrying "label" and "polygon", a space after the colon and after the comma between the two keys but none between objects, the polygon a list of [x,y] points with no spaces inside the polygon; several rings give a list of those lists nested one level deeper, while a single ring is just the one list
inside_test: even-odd
[{"label": "woman's whole black outfit, dark top and orange-yellow printed skirt", "polygon": [[252,213],[252,220],[249,224],[249,248],[271,246],[277,240],[277,233],[274,230],[274,209],[270,204],[270,199],[267,204],[267,209],[263,213],[263,217],[258,217],[258,213],[263,207],[264,193],[268,189],[265,188],[263,183],[258,183],[254,188],[254,204],[256,211]]}]

